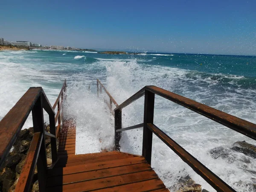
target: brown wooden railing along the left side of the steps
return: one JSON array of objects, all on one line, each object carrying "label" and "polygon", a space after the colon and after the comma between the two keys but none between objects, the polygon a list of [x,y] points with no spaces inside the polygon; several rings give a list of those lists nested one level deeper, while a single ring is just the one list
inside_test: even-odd
[{"label": "brown wooden railing along the left side of the steps", "polygon": [[[61,93],[55,102],[55,104],[58,103],[57,114],[61,111],[59,100],[60,96],[63,98],[64,90],[66,90],[66,80],[64,81]],[[48,135],[51,138],[52,165],[54,165],[58,160],[55,119],[58,117],[58,127],[60,127],[61,116],[56,115],[55,117],[54,108],[57,105],[55,104],[52,108],[42,87],[30,87],[16,105],[0,121],[0,166],[3,166],[12,145],[15,143],[15,140],[26,122],[29,113],[32,111],[34,136],[15,188],[15,192],[30,192],[36,165],[38,169],[39,191],[44,192],[46,189],[47,157],[45,135]],[[44,128],[43,109],[49,115],[50,133],[45,131]]]}]

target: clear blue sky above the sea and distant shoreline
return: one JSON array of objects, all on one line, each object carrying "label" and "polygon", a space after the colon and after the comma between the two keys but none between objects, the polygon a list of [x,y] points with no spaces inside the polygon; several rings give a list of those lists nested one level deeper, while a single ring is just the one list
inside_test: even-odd
[{"label": "clear blue sky above the sea and distant shoreline", "polygon": [[1,0],[0,37],[43,45],[256,55],[256,0]]}]

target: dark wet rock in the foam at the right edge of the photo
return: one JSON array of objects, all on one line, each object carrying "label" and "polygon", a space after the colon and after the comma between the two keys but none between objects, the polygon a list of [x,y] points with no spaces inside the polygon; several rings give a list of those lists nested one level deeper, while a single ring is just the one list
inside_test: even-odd
[{"label": "dark wet rock in the foam at the right edge of the photo", "polygon": [[238,151],[240,153],[243,153],[249,157],[256,159],[256,146],[252,145],[250,143],[247,143],[246,141],[238,141],[233,144],[233,148],[231,148],[234,151]]}]

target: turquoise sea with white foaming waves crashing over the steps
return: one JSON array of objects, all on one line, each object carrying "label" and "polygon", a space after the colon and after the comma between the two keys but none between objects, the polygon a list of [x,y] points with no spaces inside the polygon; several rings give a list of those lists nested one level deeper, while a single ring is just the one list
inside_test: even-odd
[{"label": "turquoise sea with white foaming waves crashing over the steps", "polygon": [[[104,103],[108,100],[104,91],[97,96],[96,79],[118,104],[145,85],[155,85],[256,123],[256,56],[105,55],[39,49],[0,52],[0,119],[29,87],[43,87],[53,105],[64,79],[64,113],[76,119],[76,154],[113,147],[113,116]],[[237,141],[253,145],[256,141],[160,96],[155,98],[155,125],[236,191],[256,191],[256,159],[231,149]],[[143,107],[144,97],[124,108],[122,127],[142,123]],[[49,122],[47,114],[44,119]],[[30,115],[23,128],[31,126]],[[121,151],[142,153],[142,129],[122,132]],[[203,189],[215,191],[154,134],[151,165],[171,190],[189,175]]]}]

